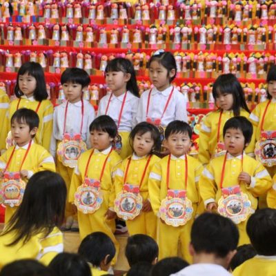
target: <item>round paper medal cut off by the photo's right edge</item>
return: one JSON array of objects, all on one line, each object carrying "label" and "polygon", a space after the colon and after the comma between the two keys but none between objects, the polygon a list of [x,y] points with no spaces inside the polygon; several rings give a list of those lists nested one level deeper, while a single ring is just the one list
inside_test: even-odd
[{"label": "round paper medal cut off by the photo's right edge", "polygon": [[255,155],[257,161],[260,161],[264,166],[275,166],[276,139],[266,139],[265,141],[257,141],[255,146]]}]

